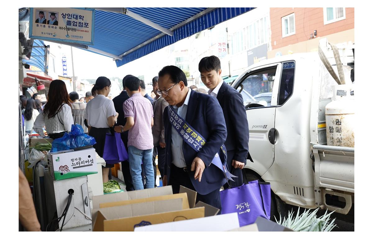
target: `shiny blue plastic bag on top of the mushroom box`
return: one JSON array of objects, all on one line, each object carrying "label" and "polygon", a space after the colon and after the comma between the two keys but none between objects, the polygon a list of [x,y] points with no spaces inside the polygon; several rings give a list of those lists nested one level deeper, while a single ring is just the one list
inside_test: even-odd
[{"label": "shiny blue plastic bag on top of the mushroom box", "polygon": [[63,150],[75,149],[83,146],[94,145],[96,140],[94,137],[84,133],[81,125],[71,125],[71,131],[66,132],[62,138],[55,139],[52,142],[50,152],[58,152]]}]

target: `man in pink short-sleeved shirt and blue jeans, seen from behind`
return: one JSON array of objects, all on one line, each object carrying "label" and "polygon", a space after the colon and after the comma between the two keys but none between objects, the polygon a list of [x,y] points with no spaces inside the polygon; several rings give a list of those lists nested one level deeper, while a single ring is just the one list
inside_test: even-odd
[{"label": "man in pink short-sleeved shirt and blue jeans, seen from behind", "polygon": [[117,133],[128,130],[128,162],[135,190],[144,189],[141,178],[141,162],[146,177],[145,188],[154,187],[153,169],[153,107],[147,98],[142,97],[140,79],[126,79],[129,99],[123,103],[126,125],[115,126]]}]

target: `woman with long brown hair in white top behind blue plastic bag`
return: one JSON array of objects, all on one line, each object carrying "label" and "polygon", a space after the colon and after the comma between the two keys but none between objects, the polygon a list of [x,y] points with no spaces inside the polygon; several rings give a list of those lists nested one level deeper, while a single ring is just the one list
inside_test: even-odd
[{"label": "woman with long brown hair in white top behind blue plastic bag", "polygon": [[34,130],[41,136],[44,136],[44,126],[48,134],[52,134],[53,131],[70,131],[74,120],[65,82],[53,80],[49,86],[47,99],[43,113],[35,120]]}]

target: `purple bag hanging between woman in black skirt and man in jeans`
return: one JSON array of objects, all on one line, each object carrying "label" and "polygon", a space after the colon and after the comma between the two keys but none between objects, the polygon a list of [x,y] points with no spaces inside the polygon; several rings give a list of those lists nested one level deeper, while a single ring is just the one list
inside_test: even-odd
[{"label": "purple bag hanging between woman in black skirt and man in jeans", "polygon": [[106,134],[102,158],[107,164],[117,164],[128,160],[128,153],[120,138],[120,133]]}]

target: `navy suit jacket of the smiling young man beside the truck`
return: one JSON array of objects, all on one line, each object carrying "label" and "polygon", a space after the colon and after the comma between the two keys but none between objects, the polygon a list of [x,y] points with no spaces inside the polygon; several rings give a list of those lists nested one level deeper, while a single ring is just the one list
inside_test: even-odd
[{"label": "navy suit jacket of the smiling young man beside the truck", "polygon": [[[233,160],[246,164],[249,151],[249,125],[242,95],[223,82],[217,93],[217,100],[223,109],[228,132],[224,145],[227,151],[234,153]],[[228,164],[231,165],[232,162]]]}]

